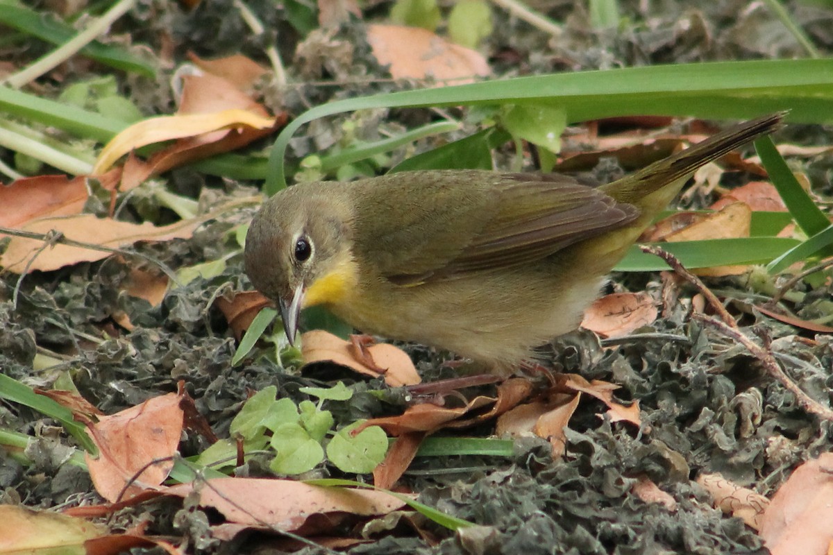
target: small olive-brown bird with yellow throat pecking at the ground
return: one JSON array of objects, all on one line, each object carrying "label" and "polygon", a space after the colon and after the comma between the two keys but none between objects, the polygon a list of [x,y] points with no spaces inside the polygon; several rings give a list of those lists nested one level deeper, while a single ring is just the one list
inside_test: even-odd
[{"label": "small olive-brown bird with yellow throat pecking at the ground", "polygon": [[301,310],[323,305],[363,333],[511,374],[580,325],[606,275],[694,171],[783,116],[731,126],[602,186],[485,170],[299,183],[252,218],[246,272],[280,308],[291,344]]}]

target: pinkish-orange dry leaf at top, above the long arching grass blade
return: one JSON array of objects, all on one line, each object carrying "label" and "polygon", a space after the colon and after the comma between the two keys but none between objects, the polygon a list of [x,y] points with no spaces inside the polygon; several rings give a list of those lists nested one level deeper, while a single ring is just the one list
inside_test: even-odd
[{"label": "pinkish-orange dry leaf at top, above the long arching grass blade", "polygon": [[420,27],[368,25],[367,42],[395,79],[436,80],[437,85],[474,82],[491,73],[479,52],[448,42]]}]

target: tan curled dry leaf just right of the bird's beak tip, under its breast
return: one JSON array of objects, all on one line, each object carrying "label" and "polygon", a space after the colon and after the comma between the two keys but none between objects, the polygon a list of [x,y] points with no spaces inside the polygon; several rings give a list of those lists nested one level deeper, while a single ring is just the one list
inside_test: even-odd
[{"label": "tan curled dry leaf just right of the bird's beak tip, under its breast", "polygon": [[[324,330],[312,330],[302,335],[302,354],[304,363],[332,361],[374,378],[380,374],[354,356],[351,342]],[[379,343],[367,348],[374,363],[385,373],[385,383],[391,387],[419,384],[421,378],[416,372],[411,357],[392,344]]]}]

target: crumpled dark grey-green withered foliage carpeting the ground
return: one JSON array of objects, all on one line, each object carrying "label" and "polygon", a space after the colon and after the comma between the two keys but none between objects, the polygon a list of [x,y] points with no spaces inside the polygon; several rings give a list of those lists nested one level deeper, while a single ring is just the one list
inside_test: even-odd
[{"label": "crumpled dark grey-green withered foliage carpeting the ground", "polygon": [[[734,24],[727,23],[726,13],[740,12],[742,2],[712,2],[701,6],[701,11],[688,12],[687,19],[681,18],[683,14],[677,12],[680,8],[675,2],[664,2],[666,15],[656,17],[651,26],[625,29],[615,35],[588,32],[584,14],[572,11],[569,3],[556,8],[566,17],[567,25],[555,50],[546,47],[541,33],[531,27],[519,23],[497,26],[488,39],[491,51],[501,52],[493,68],[511,76],[519,67],[534,73],[619,63],[796,54],[789,37],[761,32],[771,28],[771,17],[752,13]],[[257,52],[257,42],[248,37],[242,23],[225,16],[227,8],[226,2],[209,1],[192,14],[167,7],[165,17],[154,17],[145,6],[132,16],[136,23],[132,39],[156,44],[162,31],[157,26],[164,21],[183,52],[189,47],[202,57],[241,50]],[[808,20],[811,15],[830,18],[826,12],[798,14]],[[284,25],[271,21],[274,16],[267,12],[260,15],[270,32]],[[675,21],[690,25],[680,27]],[[815,29],[816,40],[827,47],[833,44],[831,27],[810,28]],[[706,35],[709,41],[704,40]],[[766,42],[753,38],[761,36],[767,37]],[[240,37],[246,37],[242,45]],[[362,46],[367,42],[361,32],[350,30],[308,40],[317,40],[319,50],[328,48],[341,56],[302,58],[307,78],[335,76],[343,85],[291,87],[283,97],[283,106],[292,111],[332,98],[394,87],[387,82],[357,84],[361,80],[352,78],[383,75],[369,56],[369,47]],[[345,44],[349,42],[359,46],[347,52]],[[170,111],[167,87],[133,82],[130,88],[135,100],[147,102],[144,108],[148,113]],[[426,121],[427,117],[420,111],[398,111],[317,121],[310,126],[308,136],[299,136],[293,142],[293,156],[306,156],[337,143],[346,122],[357,129],[354,132],[359,136],[372,138],[372,130],[381,118],[394,129]],[[507,151],[504,156],[508,160],[511,153]],[[807,172],[820,176],[829,168],[829,158],[820,159]],[[195,197],[197,191],[203,191],[203,202],[254,192],[214,182],[193,171],[174,171],[169,181],[174,190]],[[694,206],[708,204],[706,198],[692,202]],[[137,250],[174,268],[217,260],[231,248],[230,230],[247,221],[251,213],[251,209],[240,211],[197,230],[187,240],[140,245]],[[169,223],[164,221],[164,211],[161,216],[153,221],[158,225]],[[128,293],[137,270],[158,274],[157,267],[147,260],[111,257],[27,275],[13,309],[10,299],[17,278],[5,275],[7,301],[0,305],[3,373],[36,386],[72,379],[82,397],[105,414],[177,391],[177,383],[182,381],[197,411],[221,437],[227,436],[247,395],[270,385],[277,386],[279,397],[300,402],[308,399],[300,392],[304,386],[326,387],[335,379],[354,380],[356,393],[350,403],[328,404],[340,424],[399,414],[405,408],[401,392],[397,395],[392,391],[381,399],[371,393],[385,389],[381,379],[363,382],[352,374],[335,374],[337,370],[332,367],[319,365],[315,373],[299,376],[264,358],[232,366],[236,340],[213,301],[224,292],[248,288],[239,257],[229,260],[217,275],[200,276],[168,291],[155,306]],[[656,275],[619,275],[615,284],[611,290],[661,290]],[[740,278],[712,280],[710,285],[737,295],[746,290]],[[831,289],[821,285],[807,293],[809,305],[813,299],[831,295]],[[748,310],[748,305],[741,305],[741,309]],[[795,328],[754,310],[748,310],[741,325],[747,334],[760,332],[770,339],[771,348],[789,366],[802,389],[815,399],[829,399],[829,369],[833,366],[830,335],[812,340],[813,334],[796,334]],[[558,372],[620,384],[616,395],[623,402],[639,403],[640,430],[601,419],[604,405],[583,400],[564,430],[565,448],[560,459],[553,460],[551,444],[531,435],[516,440],[511,456],[417,457],[402,478],[402,485],[419,493],[422,502],[482,528],[467,529],[455,537],[431,523],[377,522],[362,528],[372,541],[349,547],[349,553],[765,553],[761,538],[740,518],[712,508],[712,493],[693,478],[701,473],[720,473],[738,486],[754,488],[769,497],[798,463],[831,450],[830,425],[807,415],[792,395],[736,343],[689,320],[680,304],[670,303],[660,319],[642,326],[636,336],[618,341],[614,347],[602,347],[590,332],[571,334],[556,341],[551,364]],[[456,375],[440,368],[441,355],[419,346],[407,349],[426,381]],[[45,357],[50,358],[48,362]],[[494,394],[493,386],[476,391]],[[466,394],[473,396],[468,391]],[[4,457],[0,483],[5,501],[32,508],[100,501],[87,471],[64,463],[67,442],[51,420],[17,405],[3,405],[2,420],[8,429],[38,438],[27,448],[31,464]],[[484,437],[491,431],[492,424],[481,423],[464,432],[442,434]],[[207,441],[198,434],[187,434],[180,450],[191,455],[206,447]],[[268,472],[256,459],[240,468],[238,474],[257,477]],[[318,468],[306,477],[331,475],[341,476],[333,468]],[[646,481],[670,493],[675,507],[670,510],[666,504],[646,503],[636,495],[637,485]],[[217,514],[201,510],[196,504],[187,504],[187,510],[177,512],[171,503],[156,501],[122,510],[115,525],[132,529],[143,523],[142,533],[186,537],[189,550],[202,553],[286,548],[286,544],[268,543],[262,535],[242,544],[212,540],[207,536],[207,525],[216,522]],[[331,523],[335,527],[335,533],[331,533],[359,537],[360,522]],[[315,551],[302,548],[302,553]]]}]

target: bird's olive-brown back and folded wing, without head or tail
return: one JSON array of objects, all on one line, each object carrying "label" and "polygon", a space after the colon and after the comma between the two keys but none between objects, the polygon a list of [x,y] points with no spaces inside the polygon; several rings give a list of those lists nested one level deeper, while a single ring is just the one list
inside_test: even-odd
[{"label": "bird's olive-brown back and folded wing, without head or tail", "polygon": [[[391,182],[383,201],[390,206],[377,201],[372,209],[377,225],[386,210],[390,221],[385,229],[364,228],[360,245],[378,261],[378,272],[401,285],[528,264],[638,216],[635,206],[568,176],[431,171],[402,181],[403,176]],[[397,191],[400,184],[404,189]],[[418,203],[407,201],[415,197]],[[362,221],[367,217],[357,214],[357,225]]]}]

